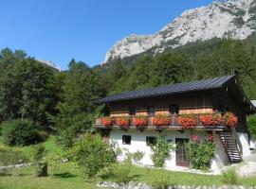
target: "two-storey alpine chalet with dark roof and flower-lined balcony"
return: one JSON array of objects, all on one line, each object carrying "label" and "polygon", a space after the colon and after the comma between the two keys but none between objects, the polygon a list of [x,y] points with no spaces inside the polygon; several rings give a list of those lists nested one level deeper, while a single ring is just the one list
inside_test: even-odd
[{"label": "two-storey alpine chalet with dark roof and flower-lined balcony", "polygon": [[[115,143],[123,150],[119,161],[124,160],[125,151],[140,151],[144,154],[140,163],[153,165],[151,145],[159,135],[176,146],[165,162],[166,168],[170,169],[189,166],[185,144],[192,135],[198,136],[201,141],[209,134],[213,136],[216,150],[211,162],[212,170],[217,170],[223,164],[241,162],[250,153],[247,115],[254,113],[255,108],[236,76],[114,94],[97,102],[109,106],[110,122],[105,123],[102,117],[96,118],[95,128],[109,137],[109,143]],[[222,117],[226,112],[235,115],[236,127],[229,127],[223,121],[209,125],[202,119],[204,115],[213,113]],[[162,115],[165,122],[161,125],[156,121]],[[139,122],[141,117],[144,125]],[[186,122],[188,117],[192,121],[189,125]]]}]

